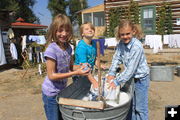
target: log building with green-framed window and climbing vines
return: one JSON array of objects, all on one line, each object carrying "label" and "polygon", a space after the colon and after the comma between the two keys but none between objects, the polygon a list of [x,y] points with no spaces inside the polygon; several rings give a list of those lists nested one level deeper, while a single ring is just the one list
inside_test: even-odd
[{"label": "log building with green-framed window and climbing vines", "polygon": [[[140,7],[140,23],[146,34],[156,34],[157,29],[157,8],[164,2],[168,3],[172,10],[172,33],[180,34],[180,0],[134,0]],[[104,0],[105,21],[107,31],[109,30],[111,8],[125,7],[130,0]]]}]

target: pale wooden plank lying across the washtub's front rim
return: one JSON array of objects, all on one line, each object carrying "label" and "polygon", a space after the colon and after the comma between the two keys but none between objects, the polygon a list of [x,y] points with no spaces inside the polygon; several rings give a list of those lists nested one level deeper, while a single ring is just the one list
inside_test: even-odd
[{"label": "pale wooden plank lying across the washtub's front rim", "polygon": [[70,105],[76,107],[92,108],[92,109],[104,109],[105,104],[102,101],[85,101],[70,98],[59,98],[59,104]]}]

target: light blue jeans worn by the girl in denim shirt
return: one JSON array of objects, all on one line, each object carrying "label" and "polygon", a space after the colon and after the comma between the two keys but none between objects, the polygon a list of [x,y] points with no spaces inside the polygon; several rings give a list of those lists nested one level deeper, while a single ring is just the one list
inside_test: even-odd
[{"label": "light blue jeans worn by the girl in denim shirt", "polygon": [[149,75],[135,80],[131,120],[148,120]]}]

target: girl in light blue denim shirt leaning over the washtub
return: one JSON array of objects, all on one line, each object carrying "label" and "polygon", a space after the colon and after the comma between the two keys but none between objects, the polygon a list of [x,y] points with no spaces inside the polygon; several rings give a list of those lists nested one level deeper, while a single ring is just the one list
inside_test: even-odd
[{"label": "girl in light blue denim shirt leaning over the washtub", "polygon": [[[120,40],[112,59],[107,76],[109,88],[113,89],[123,82],[134,78],[135,90],[132,104],[132,120],[148,120],[148,88],[149,67],[141,42],[140,26],[130,20],[121,20],[116,31],[116,39]],[[137,39],[138,38],[138,39]],[[115,77],[116,69],[124,65],[124,71]]]}]

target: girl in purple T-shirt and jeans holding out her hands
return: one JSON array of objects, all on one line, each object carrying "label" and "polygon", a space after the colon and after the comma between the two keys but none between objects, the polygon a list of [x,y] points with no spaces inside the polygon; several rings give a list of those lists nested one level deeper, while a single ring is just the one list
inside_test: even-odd
[{"label": "girl in purple T-shirt and jeans holding out her hands", "polygon": [[69,45],[71,38],[72,25],[69,18],[58,14],[48,30],[48,47],[44,53],[47,76],[42,83],[42,99],[48,120],[63,120],[56,96],[66,88],[67,78],[73,75],[87,75],[89,72],[89,70],[84,71],[83,67],[72,71],[72,48]]}]

